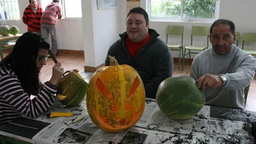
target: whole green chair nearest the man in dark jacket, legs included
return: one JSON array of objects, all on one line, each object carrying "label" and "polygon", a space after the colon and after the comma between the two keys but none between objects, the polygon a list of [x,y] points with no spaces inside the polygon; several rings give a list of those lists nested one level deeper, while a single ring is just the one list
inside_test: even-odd
[{"label": "whole green chair nearest the man in dark jacket, legs included", "polygon": [[[168,44],[168,35],[181,35],[181,44]],[[179,64],[180,64],[180,55],[182,54],[183,58],[183,26],[167,26],[166,29],[166,44],[170,50],[179,51]],[[178,67],[179,67],[178,64]],[[182,69],[183,70],[183,69]]]}]

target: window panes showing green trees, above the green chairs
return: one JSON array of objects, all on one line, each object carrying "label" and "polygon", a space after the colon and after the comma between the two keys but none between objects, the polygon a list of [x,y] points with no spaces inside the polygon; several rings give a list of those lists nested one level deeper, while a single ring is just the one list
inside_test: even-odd
[{"label": "window panes showing green trees, above the green chairs", "polygon": [[151,20],[213,21],[217,19],[218,0],[149,0]]}]

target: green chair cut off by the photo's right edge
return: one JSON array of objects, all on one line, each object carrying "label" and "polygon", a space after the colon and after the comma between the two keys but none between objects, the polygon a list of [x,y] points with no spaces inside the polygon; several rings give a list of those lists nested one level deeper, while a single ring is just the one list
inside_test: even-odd
[{"label": "green chair cut off by the photo's right edge", "polygon": [[244,49],[244,42],[256,42],[256,33],[243,33],[242,35],[243,45],[242,49],[252,56],[256,56],[256,49]]}]

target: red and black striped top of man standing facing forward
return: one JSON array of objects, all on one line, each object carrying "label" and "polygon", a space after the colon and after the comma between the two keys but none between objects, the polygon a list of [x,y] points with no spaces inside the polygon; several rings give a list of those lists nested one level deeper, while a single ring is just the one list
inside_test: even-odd
[{"label": "red and black striped top of man standing facing forward", "polygon": [[42,14],[43,10],[40,6],[37,6],[36,13],[30,5],[24,10],[22,21],[28,26],[29,31],[41,31],[40,19]]}]

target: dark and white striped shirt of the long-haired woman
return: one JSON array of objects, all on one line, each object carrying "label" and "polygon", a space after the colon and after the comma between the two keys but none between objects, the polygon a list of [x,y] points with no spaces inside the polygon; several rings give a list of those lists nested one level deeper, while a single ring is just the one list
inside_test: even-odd
[{"label": "dark and white striped shirt of the long-haired woman", "polygon": [[41,83],[38,94],[30,99],[15,72],[9,67],[0,66],[0,125],[20,115],[36,118],[46,112],[56,100],[56,90],[56,86],[48,81]]}]

